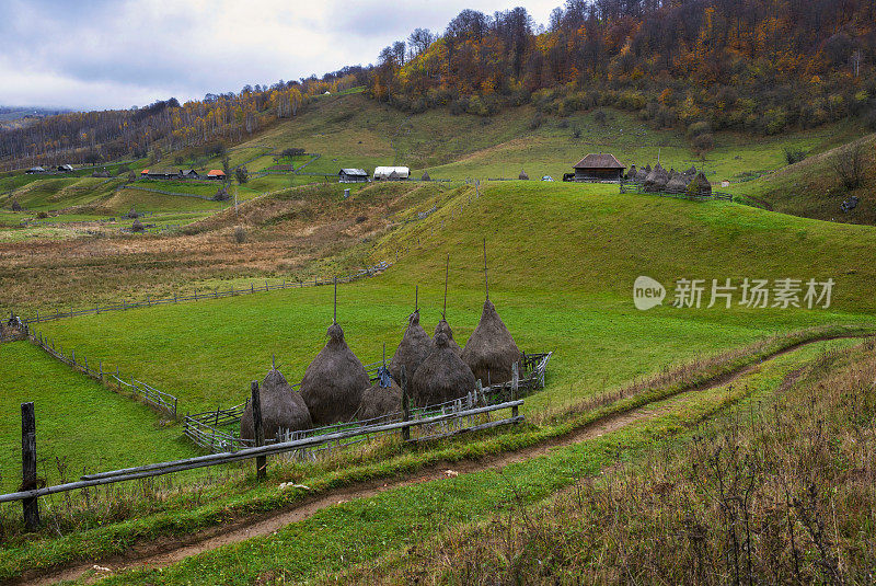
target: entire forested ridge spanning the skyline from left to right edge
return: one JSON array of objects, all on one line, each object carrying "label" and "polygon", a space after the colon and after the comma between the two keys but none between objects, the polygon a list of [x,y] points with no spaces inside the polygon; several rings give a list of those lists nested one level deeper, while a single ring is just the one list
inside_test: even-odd
[{"label": "entire forested ridge spanning the skyline from left to right edge", "polygon": [[388,46],[377,65],[0,130],[0,166],[231,143],[355,85],[406,112],[489,116],[533,104],[533,125],[613,106],[683,127],[707,150],[713,130],[780,134],[848,116],[876,128],[874,64],[874,0],[567,0],[546,26],[525,8],[464,10],[439,34],[417,28]]}]

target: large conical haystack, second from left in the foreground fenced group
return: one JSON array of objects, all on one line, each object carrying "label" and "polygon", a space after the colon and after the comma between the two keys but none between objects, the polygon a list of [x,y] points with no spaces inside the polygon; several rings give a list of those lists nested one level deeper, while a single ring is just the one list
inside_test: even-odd
[{"label": "large conical haystack, second from left in the foreground fenced group", "polygon": [[313,423],[331,425],[351,420],[362,392],[370,386],[368,372],[344,340],[344,330],[333,323],[328,328],[328,342],[301,379],[301,397]]}]

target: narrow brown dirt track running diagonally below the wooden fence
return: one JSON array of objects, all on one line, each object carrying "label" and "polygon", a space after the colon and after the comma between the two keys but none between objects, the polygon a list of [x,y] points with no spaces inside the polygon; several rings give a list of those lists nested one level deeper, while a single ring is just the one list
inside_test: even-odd
[{"label": "narrow brown dirt track running diagonally below the wooden fence", "polygon": [[[763,361],[772,360],[779,356],[788,354],[810,344],[826,342],[829,340],[852,337],[866,336],[841,335],[810,340],[779,351],[768,358],[764,358]],[[303,502],[295,503],[286,508],[277,509],[263,515],[249,516],[222,526],[205,529],[204,531],[199,531],[188,537],[165,538],[149,543],[137,544],[128,550],[125,555],[106,558],[89,563],[78,563],[55,572],[43,573],[42,575],[25,576],[19,581],[12,582],[11,584],[47,585],[62,581],[78,579],[92,571],[96,572],[96,577],[101,577],[102,574],[110,575],[126,570],[163,567],[185,560],[186,558],[191,558],[192,555],[197,555],[205,551],[221,548],[222,545],[239,543],[253,537],[270,535],[289,524],[307,519],[319,510],[336,505],[341,502],[353,501],[355,498],[368,498],[383,491],[448,478],[448,472],[450,472],[451,469],[452,475],[502,469],[512,463],[543,456],[554,448],[562,448],[586,441],[588,439],[593,439],[625,427],[632,423],[666,413],[670,411],[677,402],[683,400],[691,393],[714,389],[733,382],[734,380],[758,369],[763,361],[740,368],[728,375],[718,377],[704,384],[693,387],[677,395],[664,400],[666,401],[666,404],[659,409],[655,407],[654,404],[647,404],[625,413],[610,415],[589,425],[575,429],[565,436],[552,438],[535,446],[530,446],[517,451],[499,453],[480,460],[438,462],[404,478],[384,479],[380,481],[361,483],[348,489],[332,491],[327,494],[318,495],[312,498],[307,498]],[[799,369],[795,370],[792,372],[792,376],[798,376],[799,372]],[[787,381],[786,383],[789,384],[791,381]]]}]

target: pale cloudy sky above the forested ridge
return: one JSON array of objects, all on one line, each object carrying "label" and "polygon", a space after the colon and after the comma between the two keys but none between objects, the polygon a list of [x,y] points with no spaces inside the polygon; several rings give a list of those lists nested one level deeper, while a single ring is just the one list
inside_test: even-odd
[{"label": "pale cloudy sky above the forested ridge", "polygon": [[[522,3],[545,24],[563,0]],[[0,0],[0,105],[116,108],[368,65],[518,0]]]}]

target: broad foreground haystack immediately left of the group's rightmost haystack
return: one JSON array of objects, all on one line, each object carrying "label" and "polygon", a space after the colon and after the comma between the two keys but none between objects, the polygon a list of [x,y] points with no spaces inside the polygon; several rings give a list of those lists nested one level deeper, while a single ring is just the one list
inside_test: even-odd
[{"label": "broad foreground haystack immediately left of the group's rightmost haystack", "polygon": [[471,369],[450,348],[447,336],[438,333],[429,356],[411,378],[411,398],[416,405],[436,405],[465,397],[474,386]]}]

